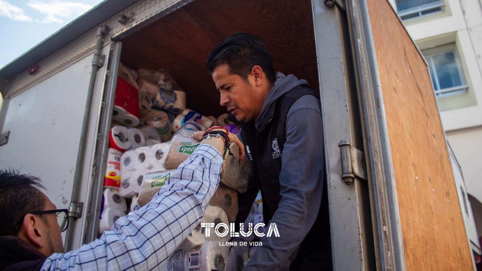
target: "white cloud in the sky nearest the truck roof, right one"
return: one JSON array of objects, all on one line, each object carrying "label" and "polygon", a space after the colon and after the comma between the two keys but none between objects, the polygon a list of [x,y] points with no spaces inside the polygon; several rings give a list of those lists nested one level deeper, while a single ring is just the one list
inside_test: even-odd
[{"label": "white cloud in the sky nearest the truck roof, right one", "polygon": [[41,14],[44,14],[45,18],[41,20],[41,22],[47,24],[61,24],[64,22],[64,18],[79,16],[92,8],[91,5],[83,3],[63,1],[42,2],[39,0],[32,0],[28,2],[27,5]]}]

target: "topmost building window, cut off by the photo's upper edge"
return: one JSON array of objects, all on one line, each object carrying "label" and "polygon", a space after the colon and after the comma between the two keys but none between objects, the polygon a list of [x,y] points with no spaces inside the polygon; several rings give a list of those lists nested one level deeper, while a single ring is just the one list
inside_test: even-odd
[{"label": "topmost building window, cut off by the photo's upper edge", "polygon": [[441,0],[395,0],[398,15],[402,20],[443,11]]}]

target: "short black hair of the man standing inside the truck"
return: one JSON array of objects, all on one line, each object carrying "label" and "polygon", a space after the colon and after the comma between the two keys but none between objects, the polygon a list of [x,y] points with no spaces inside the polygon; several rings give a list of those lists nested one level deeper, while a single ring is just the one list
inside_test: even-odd
[{"label": "short black hair of the man standing inside the truck", "polygon": [[273,56],[263,41],[246,32],[230,35],[211,50],[206,60],[209,72],[212,74],[222,64],[228,64],[229,72],[244,80],[248,79],[248,74],[256,65],[263,69],[270,82],[274,83],[276,79]]}]

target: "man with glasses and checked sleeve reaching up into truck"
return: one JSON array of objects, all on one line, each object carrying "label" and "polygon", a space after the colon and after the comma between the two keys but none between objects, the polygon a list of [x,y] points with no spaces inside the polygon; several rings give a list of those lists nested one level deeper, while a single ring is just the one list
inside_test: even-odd
[{"label": "man with glasses and checked sleeve reaching up into truck", "polygon": [[[219,184],[225,136],[202,139],[150,203],[67,253],[60,234],[68,227],[67,209],[40,191],[39,178],[0,170],[0,270],[158,270],[201,222]],[[236,135],[228,138],[242,159],[244,146]]]}]

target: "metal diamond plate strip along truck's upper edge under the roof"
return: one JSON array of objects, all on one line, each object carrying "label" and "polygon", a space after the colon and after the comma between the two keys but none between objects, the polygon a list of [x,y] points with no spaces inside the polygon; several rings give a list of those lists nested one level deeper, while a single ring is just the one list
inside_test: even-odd
[{"label": "metal diamond plate strip along truck's upper edge under the roof", "polygon": [[[104,45],[111,42],[112,37],[114,39],[120,39],[130,35],[191,1],[192,0],[140,0],[134,3],[120,13],[110,18],[106,18],[106,21],[101,24],[107,25],[111,28],[108,38],[104,40]],[[122,25],[119,23],[120,14],[125,14],[127,16],[134,14],[134,20],[126,25]],[[37,74],[29,75],[27,70],[18,74],[7,86],[8,96],[13,97],[34,84],[55,74],[58,70],[73,63],[74,60],[92,54],[94,51],[96,34],[97,27],[94,27],[75,41],[70,42],[54,54],[41,60],[39,62],[40,70]]]}]

